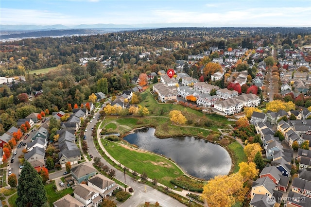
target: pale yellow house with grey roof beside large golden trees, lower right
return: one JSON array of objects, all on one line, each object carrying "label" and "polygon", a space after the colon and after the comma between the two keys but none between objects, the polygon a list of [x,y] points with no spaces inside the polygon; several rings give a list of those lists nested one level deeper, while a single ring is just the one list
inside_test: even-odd
[{"label": "pale yellow house with grey roof beside large golden trees, lower right", "polygon": [[277,185],[269,177],[261,177],[253,182],[251,199],[254,198],[255,194],[266,195],[272,198],[274,190],[277,189]]}]

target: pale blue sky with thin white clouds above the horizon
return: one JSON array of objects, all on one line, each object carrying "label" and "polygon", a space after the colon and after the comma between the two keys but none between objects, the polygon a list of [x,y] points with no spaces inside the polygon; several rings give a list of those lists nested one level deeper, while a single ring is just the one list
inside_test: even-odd
[{"label": "pale blue sky with thin white clouds above the horizon", "polygon": [[311,27],[311,0],[1,0],[1,25]]}]

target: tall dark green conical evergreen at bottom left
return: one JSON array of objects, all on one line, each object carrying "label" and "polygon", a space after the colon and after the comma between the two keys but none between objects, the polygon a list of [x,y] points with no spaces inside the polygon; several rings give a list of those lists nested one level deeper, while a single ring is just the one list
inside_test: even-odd
[{"label": "tall dark green conical evergreen at bottom left", "polygon": [[21,170],[17,186],[17,207],[42,207],[47,202],[47,193],[42,178],[27,161]]}]

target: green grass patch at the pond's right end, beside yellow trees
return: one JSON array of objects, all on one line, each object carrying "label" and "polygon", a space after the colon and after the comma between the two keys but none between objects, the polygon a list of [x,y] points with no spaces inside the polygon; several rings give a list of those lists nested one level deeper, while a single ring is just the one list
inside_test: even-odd
[{"label": "green grass patch at the pond's right end, beside yellow trees", "polygon": [[239,171],[239,164],[241,162],[247,162],[247,157],[243,151],[243,147],[238,141],[232,142],[226,146],[227,151],[229,152],[233,168],[231,169],[232,173],[237,173]]}]

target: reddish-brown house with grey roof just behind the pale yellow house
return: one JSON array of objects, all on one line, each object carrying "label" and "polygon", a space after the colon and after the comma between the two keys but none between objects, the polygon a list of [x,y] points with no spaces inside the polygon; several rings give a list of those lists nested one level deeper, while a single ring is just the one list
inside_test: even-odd
[{"label": "reddish-brown house with grey roof just behind the pale yellow house", "polygon": [[277,190],[281,190],[284,192],[286,192],[290,180],[289,177],[281,175],[281,173],[276,169],[275,166],[265,167],[260,173],[259,177],[269,177],[272,182],[276,184]]}]

